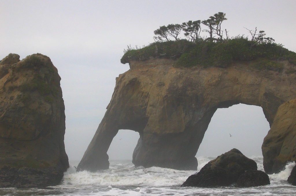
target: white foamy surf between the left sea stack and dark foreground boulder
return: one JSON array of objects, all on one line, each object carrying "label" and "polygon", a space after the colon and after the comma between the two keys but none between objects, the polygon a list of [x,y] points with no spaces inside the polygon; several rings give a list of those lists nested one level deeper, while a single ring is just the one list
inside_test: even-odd
[{"label": "white foamy surf between the left sea stack and dark foreground boulder", "polygon": [[113,166],[112,169],[95,173],[88,171],[73,172],[68,169],[64,174],[64,184],[95,185],[95,186],[175,186],[181,185],[195,171],[180,171],[168,168],[150,167],[135,168],[134,166]]}]

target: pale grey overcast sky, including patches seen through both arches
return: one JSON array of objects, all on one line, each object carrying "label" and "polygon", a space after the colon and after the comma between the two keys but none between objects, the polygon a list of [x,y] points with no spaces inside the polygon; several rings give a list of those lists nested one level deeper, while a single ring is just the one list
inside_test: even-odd
[{"label": "pale grey overcast sky, including patches seen through both arches", "polygon": [[[65,147],[80,160],[104,116],[115,77],[129,69],[120,64],[127,45],[153,42],[159,26],[207,19],[225,12],[230,36],[247,35],[243,27],[265,30],[296,51],[296,1],[2,1],[0,59],[42,53],[62,78],[65,101]],[[235,105],[218,109],[197,156],[217,156],[231,148],[259,155],[269,129],[262,109]],[[229,137],[229,133],[234,137]],[[110,159],[131,159],[139,134],[120,130]],[[254,141],[255,140],[255,141]],[[215,143],[215,145],[213,144]]]}]

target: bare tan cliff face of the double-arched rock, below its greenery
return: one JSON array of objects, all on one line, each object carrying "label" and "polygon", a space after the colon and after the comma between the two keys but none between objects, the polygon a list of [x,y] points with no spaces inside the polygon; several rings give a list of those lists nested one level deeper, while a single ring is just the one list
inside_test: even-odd
[{"label": "bare tan cliff face of the double-arched rock, below its greenery", "polygon": [[[197,169],[194,156],[217,108],[261,106],[271,125],[278,107],[296,97],[296,75],[285,74],[295,66],[288,62],[281,62],[281,73],[252,69],[251,62],[229,68],[176,68],[174,63],[130,62],[131,69],[116,79],[107,112],[78,170],[107,169],[107,150],[119,129],[140,133],[133,152],[136,166]],[[266,167],[275,171],[273,164]]]}]

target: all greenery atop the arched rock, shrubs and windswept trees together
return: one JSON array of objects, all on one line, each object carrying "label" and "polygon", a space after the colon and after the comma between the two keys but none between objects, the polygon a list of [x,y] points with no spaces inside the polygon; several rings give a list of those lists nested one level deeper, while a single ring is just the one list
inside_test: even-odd
[{"label": "all greenery atop the arched rock, shrubs and windswept trees together", "polygon": [[[255,30],[247,29],[250,38],[244,35],[230,38],[228,31],[221,28],[225,20],[225,13],[219,12],[202,21],[209,37],[200,37],[200,20],[161,26],[154,31],[157,35],[154,37],[155,43],[140,49],[128,47],[120,62],[125,64],[151,58],[170,58],[177,60],[175,66],[178,67],[227,67],[233,62],[254,61],[252,67],[274,71],[283,70],[283,65],[276,61],[287,60],[296,65],[295,52],[274,43],[273,38],[265,37],[266,33],[258,31],[257,27]],[[186,39],[180,38],[182,30]],[[170,40],[170,37],[174,40]]]}]

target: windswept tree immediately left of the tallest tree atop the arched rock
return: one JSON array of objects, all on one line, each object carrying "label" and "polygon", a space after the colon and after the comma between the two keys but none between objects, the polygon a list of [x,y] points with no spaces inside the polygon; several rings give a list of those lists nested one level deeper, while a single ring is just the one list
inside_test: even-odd
[{"label": "windswept tree immediately left of the tallest tree atop the arched rock", "polygon": [[185,32],[185,37],[187,37],[189,41],[196,43],[200,37],[200,20],[193,22],[192,20],[189,20],[188,22],[183,22],[182,25],[184,26],[183,31]]}]

